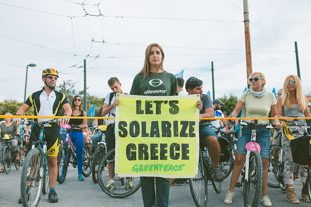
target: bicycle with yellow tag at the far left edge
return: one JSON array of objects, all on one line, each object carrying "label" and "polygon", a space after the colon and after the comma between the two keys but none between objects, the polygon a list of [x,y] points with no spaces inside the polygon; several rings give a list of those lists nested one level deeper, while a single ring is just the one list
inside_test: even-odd
[{"label": "bicycle with yellow tag at the far left edge", "polygon": [[[16,170],[21,168],[21,145],[17,144],[16,154],[12,153],[11,142],[14,137],[11,134],[5,134],[0,142],[4,142],[3,148],[3,168],[5,173],[9,174],[11,172],[11,165],[14,162]],[[19,159],[16,159],[16,156],[19,156]]]}]

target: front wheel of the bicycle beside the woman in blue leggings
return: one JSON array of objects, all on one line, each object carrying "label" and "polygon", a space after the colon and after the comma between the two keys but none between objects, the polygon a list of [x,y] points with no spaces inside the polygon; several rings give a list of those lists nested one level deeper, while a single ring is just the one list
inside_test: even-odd
[{"label": "front wheel of the bicycle beside the woman in blue leggings", "polygon": [[[69,159],[68,159],[68,148],[66,146],[61,146],[60,150],[58,151],[58,155],[57,155],[57,169],[58,169],[58,173],[57,173],[57,182],[62,184],[65,179],[66,179],[66,175],[67,175],[67,169],[68,169],[68,163],[69,163]],[[60,178],[60,175],[62,175],[63,173],[63,168],[64,168],[64,174],[63,174],[63,178]]]}]

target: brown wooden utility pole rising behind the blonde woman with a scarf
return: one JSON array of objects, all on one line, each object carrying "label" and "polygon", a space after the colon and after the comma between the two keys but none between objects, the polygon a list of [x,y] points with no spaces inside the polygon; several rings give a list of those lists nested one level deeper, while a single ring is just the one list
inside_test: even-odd
[{"label": "brown wooden utility pole rising behind the blonde woman with a scarf", "polygon": [[[248,19],[248,2],[243,0],[243,9],[244,9],[244,31],[245,31],[245,53],[246,53],[246,73],[247,78],[250,74],[253,73],[252,69],[252,53],[251,53],[251,38],[249,34],[249,19]],[[250,84],[247,82],[247,88],[250,87]]]}]

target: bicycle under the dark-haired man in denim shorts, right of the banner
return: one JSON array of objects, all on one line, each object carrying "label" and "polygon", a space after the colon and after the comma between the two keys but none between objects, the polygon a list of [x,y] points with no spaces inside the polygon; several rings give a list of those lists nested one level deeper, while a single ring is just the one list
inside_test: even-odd
[{"label": "bicycle under the dark-haired man in denim shorts, right of the banner", "polygon": [[[208,125],[210,125],[209,122],[201,120],[199,128],[201,129]],[[216,193],[220,193],[221,191],[221,182],[217,182],[214,178],[214,174],[212,173],[213,162],[209,156],[207,146],[204,145],[200,143],[197,176],[188,179],[190,192],[197,207],[207,206],[207,186],[213,185]],[[208,184],[208,180],[212,184]]]}]

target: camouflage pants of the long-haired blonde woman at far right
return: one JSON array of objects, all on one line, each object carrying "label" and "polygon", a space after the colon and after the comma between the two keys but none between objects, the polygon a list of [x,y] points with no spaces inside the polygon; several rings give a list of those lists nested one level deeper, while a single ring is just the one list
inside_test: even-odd
[{"label": "camouflage pants of the long-haired blonde woman at far right", "polygon": [[[298,130],[299,132],[303,132],[303,129],[299,126],[291,126],[291,131]],[[301,137],[303,135],[295,133],[293,134],[295,139]],[[285,183],[287,185],[294,184],[294,161],[291,154],[290,149],[290,140],[285,136],[282,132],[282,146],[283,146],[283,153],[284,153],[284,174],[285,174]],[[304,166],[300,165],[299,167],[299,174],[300,174],[300,181],[306,182],[306,178],[308,176],[307,172],[304,170]]]}]

